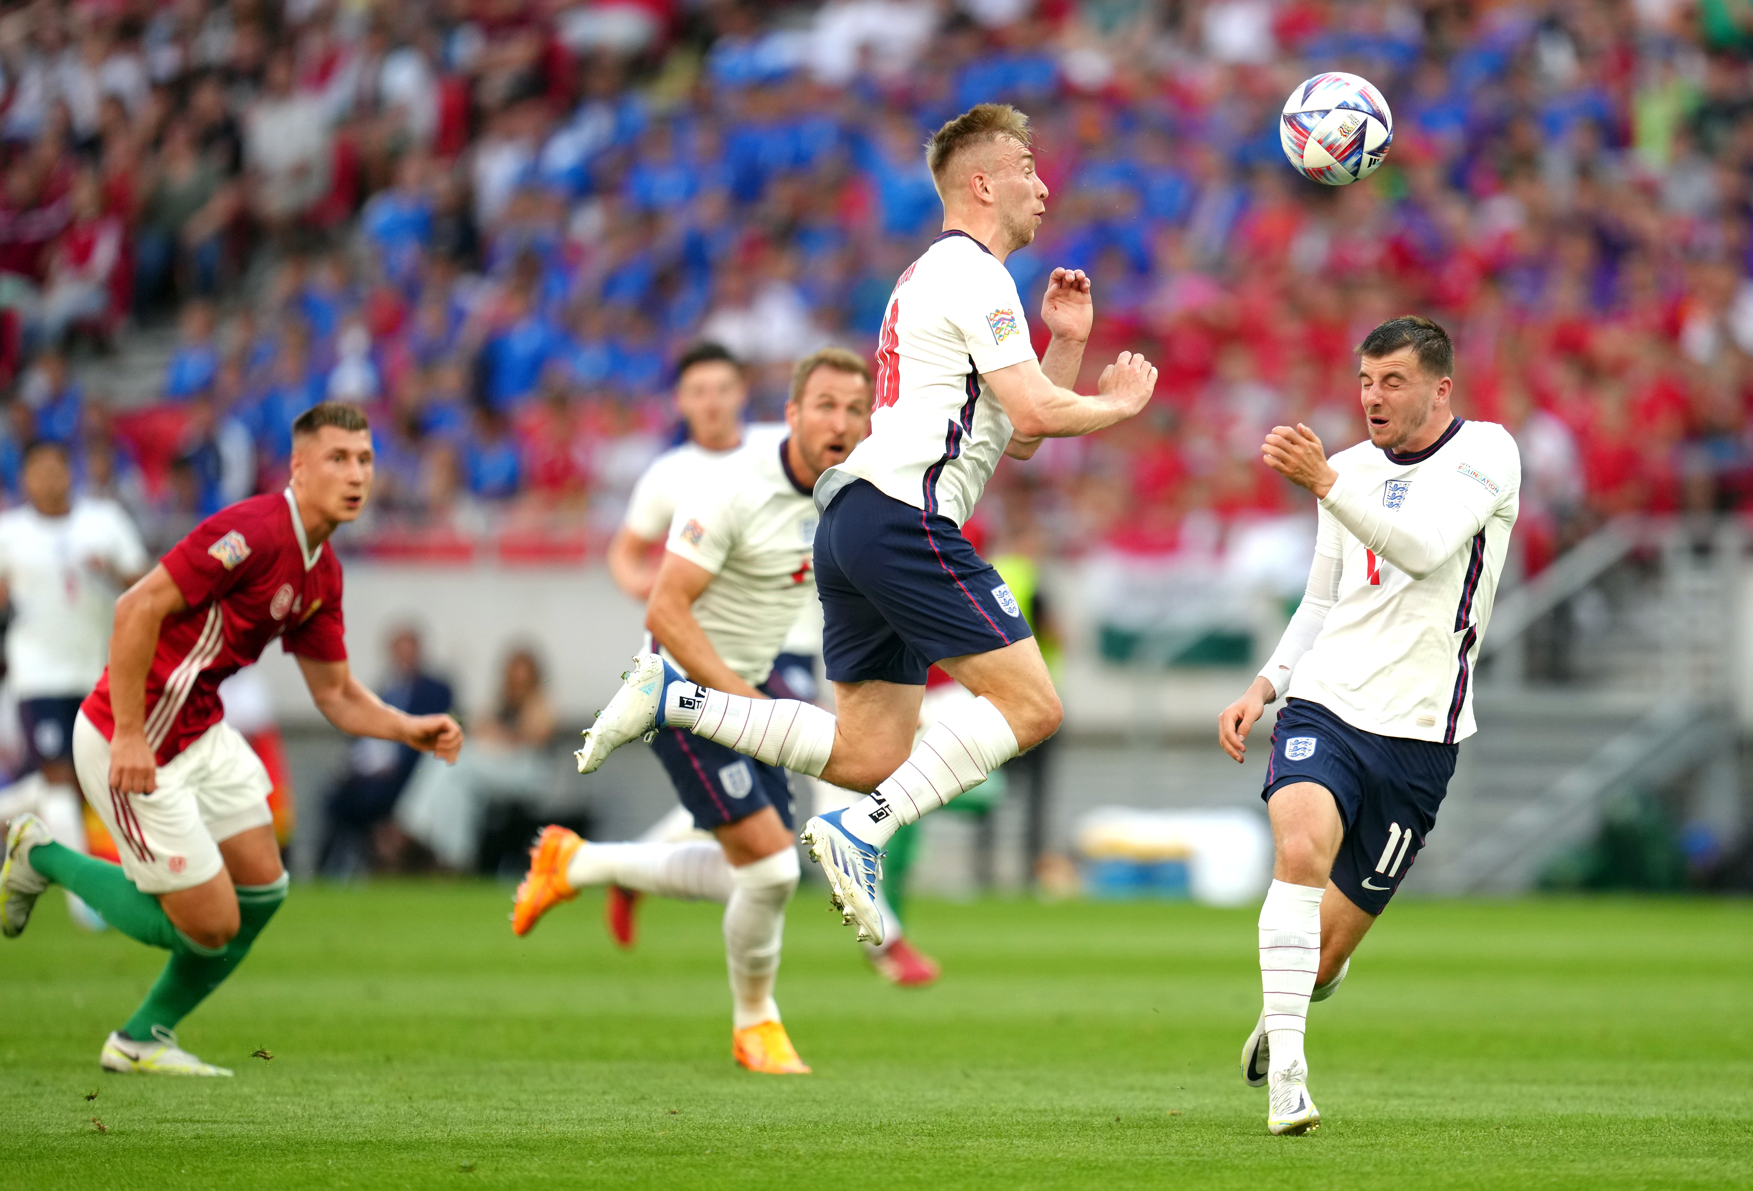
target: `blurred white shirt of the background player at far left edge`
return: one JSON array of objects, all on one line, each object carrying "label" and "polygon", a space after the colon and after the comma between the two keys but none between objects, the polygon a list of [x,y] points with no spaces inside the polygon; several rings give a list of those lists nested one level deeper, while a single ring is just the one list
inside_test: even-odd
[{"label": "blurred white shirt of the background player at far left edge", "polygon": [[114,501],[74,501],[65,517],[0,513],[0,580],[12,597],[7,681],[19,699],[82,697],[103,673],[116,585],[91,564],[140,574],[151,564]]}]

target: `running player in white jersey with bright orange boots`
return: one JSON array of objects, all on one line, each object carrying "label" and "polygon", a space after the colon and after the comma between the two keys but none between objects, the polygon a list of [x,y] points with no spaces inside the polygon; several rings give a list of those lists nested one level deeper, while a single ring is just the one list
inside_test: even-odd
[{"label": "running player in white jersey with bright orange boots", "polygon": [[[869,433],[869,368],[829,347],[798,363],[782,443],[745,447],[689,476],[645,617],[689,678],[750,701],[782,694],[770,685],[773,655],[815,592],[810,489]],[[799,876],[789,776],[678,729],[659,729],[652,748],[694,823],[717,839],[600,844],[547,827],[517,888],[512,930],[528,934],[586,884],[724,902],[731,1053],[754,1072],[808,1072],[773,1000]]]}]

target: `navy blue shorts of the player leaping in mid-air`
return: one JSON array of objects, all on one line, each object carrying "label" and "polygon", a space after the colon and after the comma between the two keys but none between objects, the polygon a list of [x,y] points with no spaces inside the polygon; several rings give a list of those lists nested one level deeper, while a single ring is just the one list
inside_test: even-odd
[{"label": "navy blue shorts of the player leaping in mid-air", "polygon": [[933,662],[1034,636],[961,527],[854,480],[815,529],[829,681],[922,687]]}]

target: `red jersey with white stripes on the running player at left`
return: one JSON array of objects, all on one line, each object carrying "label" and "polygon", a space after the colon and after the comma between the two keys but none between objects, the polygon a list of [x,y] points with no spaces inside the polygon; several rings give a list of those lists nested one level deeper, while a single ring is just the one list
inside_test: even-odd
[{"label": "red jersey with white stripes on the running player at left", "polygon": [[[347,657],[340,562],[305,550],[287,489],[219,510],[161,559],[188,610],[165,617],[145,676],[145,739],[158,764],[224,718],[219,683],[261,657],[273,638],[317,662]],[[81,711],[103,739],[116,734],[109,669]]]}]

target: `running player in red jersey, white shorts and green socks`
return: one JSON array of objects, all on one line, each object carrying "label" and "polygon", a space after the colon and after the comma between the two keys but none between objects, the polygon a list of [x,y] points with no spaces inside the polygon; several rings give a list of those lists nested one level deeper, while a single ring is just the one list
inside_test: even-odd
[{"label": "running player in red jersey, white shorts and green socks", "polygon": [[112,1072],[230,1075],[195,1058],[177,1023],[249,955],[286,899],[272,786],[223,722],[219,683],[280,638],[330,723],[454,760],[445,715],[386,708],[347,669],[340,562],[324,543],[372,490],[372,433],[340,403],[293,422],[291,485],[214,513],[116,601],[109,669],[74,723],[86,800],[121,867],[49,837],[33,814],[7,832],[0,927],[9,939],[58,883],[116,930],[170,951],[135,1014],[103,1042]]}]

